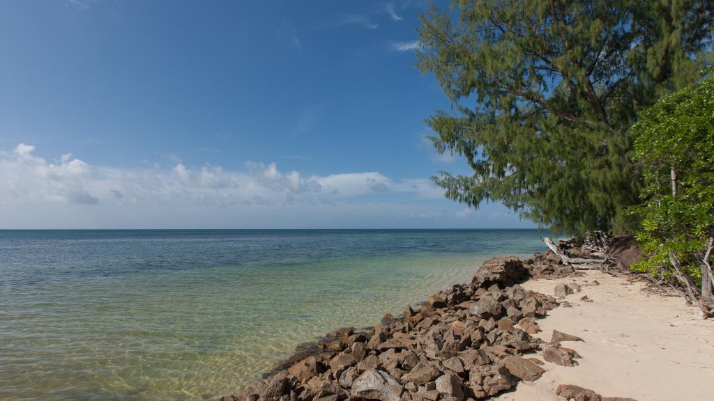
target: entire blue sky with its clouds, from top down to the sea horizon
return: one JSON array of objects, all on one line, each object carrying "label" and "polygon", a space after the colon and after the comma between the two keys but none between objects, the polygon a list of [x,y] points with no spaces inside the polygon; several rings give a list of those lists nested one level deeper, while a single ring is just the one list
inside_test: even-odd
[{"label": "entire blue sky with its clouds, from top down to the sea horizon", "polygon": [[0,2],[0,228],[533,228],[448,200],[424,1]]}]

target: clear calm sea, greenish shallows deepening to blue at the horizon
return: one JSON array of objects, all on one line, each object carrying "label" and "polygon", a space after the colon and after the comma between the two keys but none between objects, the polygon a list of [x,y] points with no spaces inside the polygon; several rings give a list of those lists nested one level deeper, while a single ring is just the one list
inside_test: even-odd
[{"label": "clear calm sea, greenish shallows deepening to blue at the horizon", "polygon": [[0,400],[200,400],[537,230],[0,231]]}]

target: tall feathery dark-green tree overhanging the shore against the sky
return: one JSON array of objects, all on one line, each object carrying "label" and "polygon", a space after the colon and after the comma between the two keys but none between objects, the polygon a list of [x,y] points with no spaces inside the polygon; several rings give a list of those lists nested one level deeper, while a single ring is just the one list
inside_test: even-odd
[{"label": "tall feathery dark-green tree overhanging the shore against the sky", "polygon": [[700,77],[708,0],[453,1],[421,18],[417,65],[451,101],[428,125],[446,196],[498,200],[539,225],[623,232],[641,177],[628,128],[658,96]]}]

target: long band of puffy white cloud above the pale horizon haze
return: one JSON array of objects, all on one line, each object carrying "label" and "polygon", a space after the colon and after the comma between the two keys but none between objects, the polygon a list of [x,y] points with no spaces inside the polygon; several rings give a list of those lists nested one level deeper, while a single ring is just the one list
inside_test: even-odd
[{"label": "long band of puffy white cloud above the pale horizon haze", "polygon": [[433,198],[441,190],[428,179],[388,178],[378,172],[305,176],[276,163],[246,163],[245,170],[220,166],[111,168],[90,166],[67,153],[59,163],[18,145],[0,153],[0,203],[121,203],[250,205],[261,202],[329,203],[376,193],[412,193]]}]

